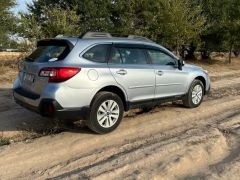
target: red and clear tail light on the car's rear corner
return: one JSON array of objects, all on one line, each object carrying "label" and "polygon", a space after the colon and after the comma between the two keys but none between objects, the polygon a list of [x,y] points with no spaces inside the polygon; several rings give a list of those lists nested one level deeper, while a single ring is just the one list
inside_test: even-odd
[{"label": "red and clear tail light on the car's rear corner", "polygon": [[39,72],[40,77],[48,77],[49,82],[63,82],[75,76],[81,69],[72,67],[43,68]]}]

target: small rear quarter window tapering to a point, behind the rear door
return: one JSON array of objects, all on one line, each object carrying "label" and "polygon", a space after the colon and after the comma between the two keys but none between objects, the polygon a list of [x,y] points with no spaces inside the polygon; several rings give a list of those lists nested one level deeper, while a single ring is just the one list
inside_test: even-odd
[{"label": "small rear quarter window tapering to a point, behind the rear door", "polygon": [[84,53],[83,57],[94,62],[106,62],[109,45],[96,45]]}]

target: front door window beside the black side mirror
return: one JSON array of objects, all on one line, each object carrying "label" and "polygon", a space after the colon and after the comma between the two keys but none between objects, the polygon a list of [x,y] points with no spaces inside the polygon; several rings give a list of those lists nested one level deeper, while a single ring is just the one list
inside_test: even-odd
[{"label": "front door window beside the black side mirror", "polygon": [[159,65],[175,65],[175,59],[171,56],[158,51],[158,50],[147,50],[152,63],[159,64]]}]

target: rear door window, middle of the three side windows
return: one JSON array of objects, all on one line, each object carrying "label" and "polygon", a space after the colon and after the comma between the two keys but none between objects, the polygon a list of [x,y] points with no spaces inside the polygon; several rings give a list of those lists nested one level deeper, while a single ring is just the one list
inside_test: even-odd
[{"label": "rear door window, middle of the three side windows", "polygon": [[147,59],[142,49],[113,48],[111,62],[117,64],[147,64]]}]

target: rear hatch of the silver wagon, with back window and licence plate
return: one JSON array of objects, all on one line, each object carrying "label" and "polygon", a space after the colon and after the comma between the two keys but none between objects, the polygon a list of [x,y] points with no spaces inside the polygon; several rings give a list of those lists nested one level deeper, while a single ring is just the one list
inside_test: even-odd
[{"label": "rear hatch of the silver wagon, with back window and licence plate", "polygon": [[39,76],[40,70],[44,67],[59,64],[66,58],[72,48],[73,44],[67,40],[49,39],[39,41],[36,50],[19,65],[21,88],[40,94],[48,84],[48,77]]}]

